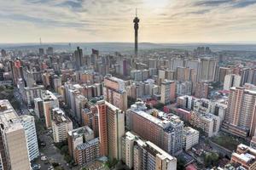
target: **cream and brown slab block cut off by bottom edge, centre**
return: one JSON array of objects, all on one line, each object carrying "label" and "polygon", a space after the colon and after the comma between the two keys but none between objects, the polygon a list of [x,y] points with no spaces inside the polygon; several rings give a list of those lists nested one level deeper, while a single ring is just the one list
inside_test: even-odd
[{"label": "cream and brown slab block cut off by bottom edge, centre", "polygon": [[122,139],[122,160],[130,169],[160,169],[175,170],[175,157],[161,150],[149,141],[143,141],[137,135],[127,132]]}]

